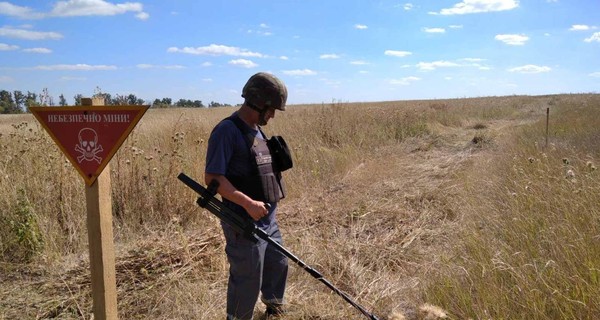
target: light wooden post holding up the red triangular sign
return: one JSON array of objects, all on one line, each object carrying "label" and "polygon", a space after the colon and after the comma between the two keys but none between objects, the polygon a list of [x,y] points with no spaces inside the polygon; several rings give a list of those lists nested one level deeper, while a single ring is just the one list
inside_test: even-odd
[{"label": "light wooden post holding up the red triangular sign", "polygon": [[[83,98],[84,106],[104,105],[104,99]],[[94,184],[85,187],[87,227],[92,273],[94,319],[113,320],[117,315],[117,281],[112,230],[110,167],[106,165]]]}]

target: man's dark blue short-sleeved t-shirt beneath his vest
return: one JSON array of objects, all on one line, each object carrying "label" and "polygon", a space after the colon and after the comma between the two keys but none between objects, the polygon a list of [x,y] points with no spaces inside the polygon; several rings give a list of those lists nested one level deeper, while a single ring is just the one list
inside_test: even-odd
[{"label": "man's dark blue short-sleeved t-shirt beneath his vest", "polygon": [[[237,113],[233,114],[237,117]],[[245,124],[245,123],[244,123]],[[250,147],[246,142],[246,133],[264,139],[259,130],[254,130],[245,125],[242,133],[233,121],[221,121],[215,126],[210,138],[208,139],[208,149],[206,151],[206,167],[204,171],[210,174],[230,175],[230,176],[250,176],[256,174],[256,164],[251,159]],[[225,205],[234,211],[245,214],[241,206],[223,199]],[[275,212],[277,204],[271,203],[269,214],[259,221],[256,221],[258,227],[267,227],[275,221]]]}]

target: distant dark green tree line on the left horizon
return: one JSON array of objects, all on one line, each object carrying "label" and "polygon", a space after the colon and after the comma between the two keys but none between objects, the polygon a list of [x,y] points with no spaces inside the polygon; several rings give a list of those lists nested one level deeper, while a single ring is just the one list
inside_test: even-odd
[{"label": "distant dark green tree line on the left horizon", "polygon": [[[211,101],[207,105],[200,100],[179,99],[173,103],[171,98],[154,99],[152,103],[138,98],[135,94],[111,95],[110,93],[102,92],[96,88],[94,98],[104,98],[105,105],[145,105],[150,104],[152,108],[214,108],[214,107],[229,107],[230,104],[218,103]],[[83,95],[77,94],[73,97],[75,106],[81,105]],[[43,89],[41,93],[27,91],[24,93],[20,90],[0,90],[0,114],[19,114],[28,113],[30,107],[37,106],[67,106],[67,99],[63,94],[58,96],[58,101],[48,93],[48,89]]]}]

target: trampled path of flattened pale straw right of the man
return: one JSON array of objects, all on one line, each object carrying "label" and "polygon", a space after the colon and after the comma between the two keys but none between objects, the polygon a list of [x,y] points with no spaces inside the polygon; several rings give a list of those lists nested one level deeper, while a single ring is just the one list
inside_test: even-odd
[{"label": "trampled path of flattened pale straw right of the man", "polygon": [[[526,122],[491,121],[480,129],[438,126],[431,137],[378,150],[325,191],[319,199],[324,205],[310,209],[321,212],[315,223],[332,226],[334,236],[319,236],[327,238],[334,251],[356,251],[339,254],[338,259],[354,254],[353,263],[362,263],[376,274],[360,283],[356,279],[367,271],[348,266],[347,272],[355,277],[336,281],[353,282],[363,290],[363,299],[379,300],[383,315],[402,310],[407,318],[414,318],[421,284],[440,263],[440,253],[452,246],[449,239],[460,224],[461,175]],[[338,240],[340,233],[350,236]],[[294,230],[289,234],[294,235]],[[300,252],[301,256],[310,255],[311,250],[315,248]],[[335,265],[324,268],[335,269]],[[377,277],[382,278],[380,282],[372,280]]]}]

